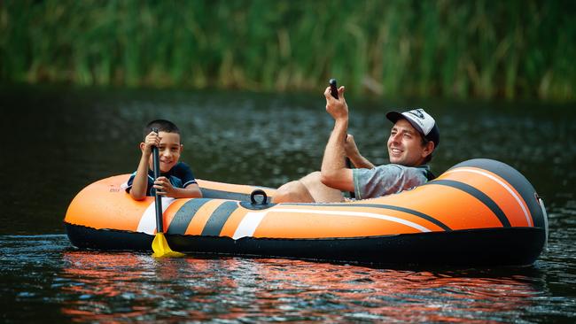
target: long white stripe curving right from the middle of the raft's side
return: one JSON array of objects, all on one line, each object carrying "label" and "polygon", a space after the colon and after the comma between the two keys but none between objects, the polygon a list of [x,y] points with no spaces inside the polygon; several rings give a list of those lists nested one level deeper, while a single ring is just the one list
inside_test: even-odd
[{"label": "long white stripe curving right from the middle of the raft's side", "polygon": [[420,232],[431,232],[430,229],[424,228],[423,226],[418,225],[418,224],[411,222],[409,220],[402,220],[402,219],[399,219],[397,217],[381,215],[381,214],[372,213],[372,212],[315,211],[315,210],[309,210],[309,209],[278,208],[278,209],[271,209],[271,210],[268,210],[265,212],[247,212],[245,214],[244,218],[242,219],[242,221],[240,221],[240,224],[238,224],[238,228],[236,229],[236,232],[234,232],[234,235],[232,235],[232,238],[237,240],[238,238],[254,235],[254,232],[256,231],[256,228],[258,228],[258,225],[260,225],[261,220],[269,212],[297,212],[297,213],[307,213],[307,214],[315,213],[315,214],[321,214],[321,215],[340,215],[340,216],[346,216],[346,217],[368,217],[368,218],[372,218],[372,219],[388,220],[388,221],[392,221],[394,223],[403,224],[403,225],[406,225],[410,228],[415,228],[415,229],[419,230]]}]

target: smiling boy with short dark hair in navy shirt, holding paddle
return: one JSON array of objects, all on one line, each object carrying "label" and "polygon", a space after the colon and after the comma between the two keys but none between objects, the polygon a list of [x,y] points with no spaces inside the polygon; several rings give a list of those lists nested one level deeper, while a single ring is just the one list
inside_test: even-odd
[{"label": "smiling boy with short dark hair in navy shirt, holding paddle", "polygon": [[[158,134],[152,131],[158,128]],[[144,127],[144,143],[140,143],[142,158],[138,168],[128,180],[126,191],[135,200],[154,196],[152,189],[165,197],[198,198],[202,192],[190,166],[178,162],[183,150],[180,130],[168,120],[152,120]],[[152,147],[156,146],[160,157],[160,177],[154,181]]]}]

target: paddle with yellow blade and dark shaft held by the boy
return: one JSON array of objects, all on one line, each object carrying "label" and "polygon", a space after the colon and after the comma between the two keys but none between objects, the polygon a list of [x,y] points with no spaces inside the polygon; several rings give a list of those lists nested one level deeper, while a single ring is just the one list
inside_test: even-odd
[{"label": "paddle with yellow blade and dark shaft held by the boy", "polygon": [[[152,132],[158,134],[157,128],[152,128]],[[160,177],[160,154],[158,152],[158,147],[152,146],[152,165],[154,172],[154,181]],[[180,258],[184,254],[176,251],[172,251],[166,237],[164,237],[164,221],[162,220],[162,197],[156,193],[154,189],[154,196],[156,197],[156,235],[152,241],[152,257],[154,258]]]}]

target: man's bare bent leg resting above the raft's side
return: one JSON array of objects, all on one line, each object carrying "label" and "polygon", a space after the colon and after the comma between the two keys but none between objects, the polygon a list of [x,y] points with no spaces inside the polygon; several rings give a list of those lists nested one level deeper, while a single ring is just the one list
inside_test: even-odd
[{"label": "man's bare bent leg resting above the raft's side", "polygon": [[344,201],[338,189],[331,189],[320,181],[320,172],[307,174],[276,189],[272,202],[277,203],[339,203]]}]

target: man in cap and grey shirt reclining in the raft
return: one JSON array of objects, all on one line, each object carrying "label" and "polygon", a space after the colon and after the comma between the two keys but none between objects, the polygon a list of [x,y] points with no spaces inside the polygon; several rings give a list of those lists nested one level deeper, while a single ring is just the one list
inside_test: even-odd
[{"label": "man in cap and grey shirt reclining in the raft", "polygon": [[[390,164],[374,166],[362,157],[354,137],[347,135],[348,105],[344,91],[344,87],[339,88],[339,99],[331,96],[330,87],[324,91],[326,111],[334,119],[334,129],[324,150],[321,171],[278,188],[274,203],[342,202],[342,191],[354,191],[356,199],[381,197],[434,178],[425,165],[440,143],[440,131],[432,116],[423,109],[388,112],[386,118],[394,123],[387,142]],[[346,167],[346,156],[355,169]]]}]

